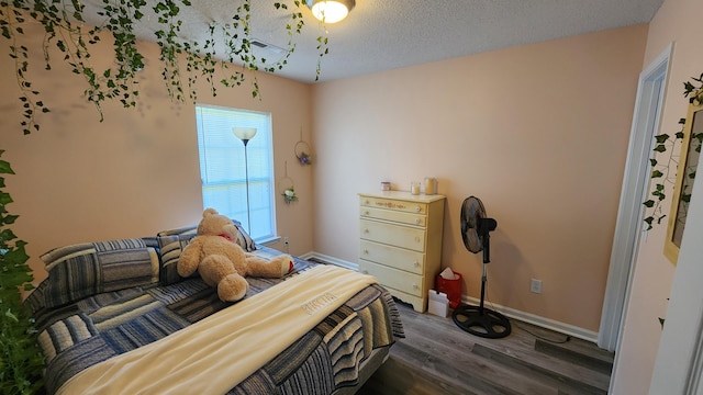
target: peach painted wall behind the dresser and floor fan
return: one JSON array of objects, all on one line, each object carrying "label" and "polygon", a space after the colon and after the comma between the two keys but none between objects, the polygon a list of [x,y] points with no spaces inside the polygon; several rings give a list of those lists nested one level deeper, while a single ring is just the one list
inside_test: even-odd
[{"label": "peach painted wall behind the dresser and floor fan", "polygon": [[[478,297],[465,198],[498,221],[489,301],[598,331],[646,25],[322,83],[315,250],[358,259],[358,196],[426,176],[447,195],[443,266]],[[543,293],[529,292],[531,278]]]}]

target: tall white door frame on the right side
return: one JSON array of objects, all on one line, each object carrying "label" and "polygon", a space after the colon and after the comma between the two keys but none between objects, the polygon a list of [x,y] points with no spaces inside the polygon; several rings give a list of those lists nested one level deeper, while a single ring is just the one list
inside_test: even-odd
[{"label": "tall white door frame on the right side", "polygon": [[640,236],[646,236],[640,235],[641,203],[649,185],[649,156],[655,132],[659,129],[672,50],[673,44],[670,44],[639,74],[635,114],[629,133],[627,161],[598,335],[598,346],[610,351],[616,349],[620,339],[639,239]]}]

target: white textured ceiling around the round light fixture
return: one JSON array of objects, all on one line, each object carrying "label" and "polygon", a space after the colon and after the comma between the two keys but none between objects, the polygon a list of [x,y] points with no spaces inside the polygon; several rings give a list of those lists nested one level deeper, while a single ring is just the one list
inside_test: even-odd
[{"label": "white textured ceiling around the round light fixture", "polygon": [[[100,4],[100,0],[89,0]],[[147,0],[150,2],[150,0]],[[286,47],[284,12],[253,0],[256,40]],[[288,1],[292,3],[292,1]],[[326,26],[330,54],[321,81],[354,77],[528,43],[647,23],[663,0],[357,0],[346,20]],[[182,33],[204,42],[208,23],[225,22],[238,0],[192,0]],[[323,27],[308,8],[297,49],[279,76],[312,82]],[[148,20],[143,38],[152,40]],[[261,50],[261,56],[278,55]]]}]

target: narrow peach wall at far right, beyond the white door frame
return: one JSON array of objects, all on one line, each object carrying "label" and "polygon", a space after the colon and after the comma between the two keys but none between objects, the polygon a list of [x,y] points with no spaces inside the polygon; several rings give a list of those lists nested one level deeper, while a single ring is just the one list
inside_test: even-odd
[{"label": "narrow peach wall at far right, beyond the white door frame", "polygon": [[[679,119],[685,116],[689,104],[682,94],[683,82],[703,72],[702,14],[703,2],[700,0],[666,0],[649,24],[643,68],[674,43],[659,133],[672,134],[680,129]],[[666,204],[665,213],[669,208],[670,205]],[[640,240],[611,385],[611,393],[615,395],[646,394],[649,391],[661,337],[658,318],[666,317],[667,298],[676,270],[663,256],[665,238],[666,224]]]}]

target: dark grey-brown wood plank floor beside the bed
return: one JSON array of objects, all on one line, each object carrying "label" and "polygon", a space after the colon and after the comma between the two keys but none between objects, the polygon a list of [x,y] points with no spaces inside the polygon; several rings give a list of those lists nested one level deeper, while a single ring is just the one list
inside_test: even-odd
[{"label": "dark grey-brown wood plank floor beside the bed", "polygon": [[358,394],[606,394],[613,354],[595,345],[511,319],[512,332],[487,339],[451,317],[399,303],[405,339]]}]

